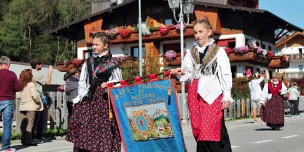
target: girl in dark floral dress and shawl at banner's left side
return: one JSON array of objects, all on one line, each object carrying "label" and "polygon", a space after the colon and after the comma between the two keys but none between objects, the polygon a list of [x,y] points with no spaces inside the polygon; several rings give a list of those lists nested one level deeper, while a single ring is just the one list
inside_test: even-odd
[{"label": "girl in dark floral dress and shawl at banner's left side", "polygon": [[94,53],[82,67],[66,137],[74,143],[74,151],[121,151],[121,138],[106,83],[121,81],[122,73],[109,45],[110,39],[105,33],[93,35]]}]

